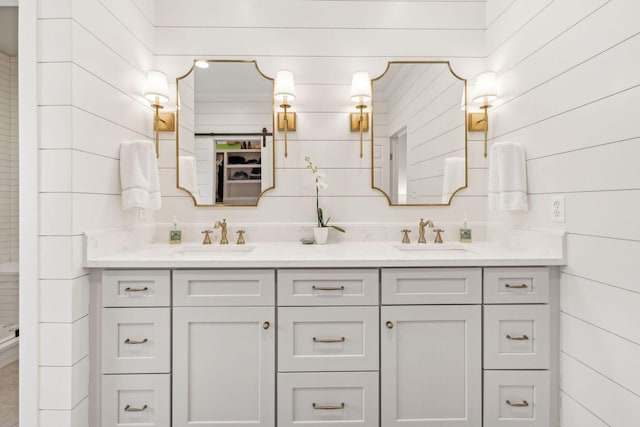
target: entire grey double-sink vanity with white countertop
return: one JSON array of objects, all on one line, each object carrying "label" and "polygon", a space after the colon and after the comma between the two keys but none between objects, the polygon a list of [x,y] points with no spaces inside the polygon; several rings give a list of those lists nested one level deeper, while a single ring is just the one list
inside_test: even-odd
[{"label": "entire grey double-sink vanity with white countertop", "polygon": [[562,258],[449,247],[89,259],[102,425],[556,425]]}]

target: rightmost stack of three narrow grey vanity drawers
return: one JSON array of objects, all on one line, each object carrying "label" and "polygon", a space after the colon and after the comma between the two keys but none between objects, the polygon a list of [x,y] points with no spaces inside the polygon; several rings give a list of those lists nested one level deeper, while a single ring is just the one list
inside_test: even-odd
[{"label": "rightmost stack of three narrow grey vanity drawers", "polygon": [[551,425],[549,269],[484,269],[484,427]]}]

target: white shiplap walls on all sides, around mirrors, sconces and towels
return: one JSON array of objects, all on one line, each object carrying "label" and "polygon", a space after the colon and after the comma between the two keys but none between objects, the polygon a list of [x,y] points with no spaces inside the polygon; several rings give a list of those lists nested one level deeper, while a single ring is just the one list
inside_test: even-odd
[{"label": "white shiplap walls on all sides, around mirrors, sconces and towels", "polygon": [[336,223],[450,221],[464,213],[482,221],[481,144],[470,141],[470,188],[452,207],[391,208],[370,189],[369,153],[358,158],[347,117],[355,111],[348,100],[355,71],[375,76],[389,59],[450,59],[472,78],[485,69],[485,53],[506,101],[492,114],[494,140],[526,145],[531,193],[528,214],[491,218],[553,227],[549,197],[567,200],[563,426],[637,425],[637,2],[489,0],[486,16],[484,2],[282,3],[194,0],[175,13],[169,0],[40,2],[40,321],[48,337],[40,343],[41,425],[86,424],[89,279],[81,233],[136,222],[120,208],[118,148],[152,137],[141,98],[148,69],[175,77],[195,57],[253,58],[270,76],[292,69],[298,90],[290,156],[278,144],[277,189],[257,208],[194,208],[173,188],[173,134],[163,134],[159,222],[174,214],[207,222],[224,212],[233,222],[311,223],[305,155],[327,172],[322,203]]}]

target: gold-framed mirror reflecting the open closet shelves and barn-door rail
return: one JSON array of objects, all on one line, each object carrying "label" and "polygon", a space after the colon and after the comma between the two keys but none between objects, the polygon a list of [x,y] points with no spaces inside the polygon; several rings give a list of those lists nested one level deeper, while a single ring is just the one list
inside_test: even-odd
[{"label": "gold-framed mirror reflecting the open closet shelves and barn-door rail", "polygon": [[256,206],[274,188],[273,79],[255,61],[194,61],[177,83],[177,186],[196,206]]}]

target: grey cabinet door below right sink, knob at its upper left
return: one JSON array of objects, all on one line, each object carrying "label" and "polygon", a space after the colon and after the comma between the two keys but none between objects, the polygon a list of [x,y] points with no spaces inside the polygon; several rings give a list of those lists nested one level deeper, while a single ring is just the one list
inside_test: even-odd
[{"label": "grey cabinet door below right sink, knob at its upper left", "polygon": [[481,425],[480,306],[382,307],[380,320],[382,425]]}]

